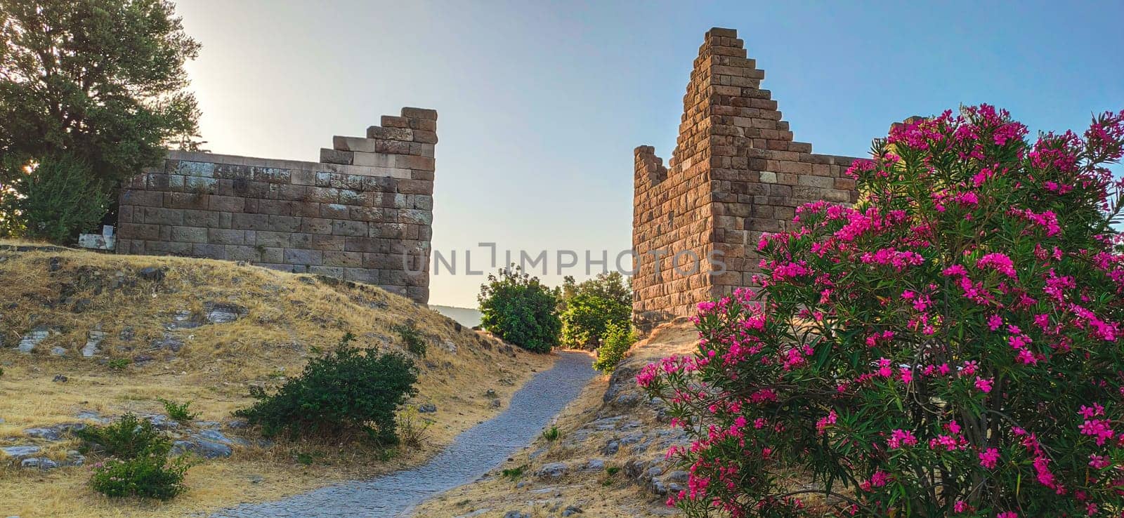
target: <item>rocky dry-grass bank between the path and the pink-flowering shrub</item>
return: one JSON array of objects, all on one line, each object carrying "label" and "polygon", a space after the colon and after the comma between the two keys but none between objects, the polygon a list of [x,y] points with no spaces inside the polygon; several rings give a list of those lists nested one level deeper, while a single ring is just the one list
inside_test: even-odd
[{"label": "rocky dry-grass bank between the path and the pink-flowering shrub", "polygon": [[595,379],[562,412],[558,438],[538,438],[480,481],[424,503],[415,516],[678,516],[664,501],[668,491],[686,487],[687,473],[671,466],[664,453],[686,444],[685,437],[634,379],[651,362],[689,354],[697,339],[686,321],[658,327],[611,376]]}]

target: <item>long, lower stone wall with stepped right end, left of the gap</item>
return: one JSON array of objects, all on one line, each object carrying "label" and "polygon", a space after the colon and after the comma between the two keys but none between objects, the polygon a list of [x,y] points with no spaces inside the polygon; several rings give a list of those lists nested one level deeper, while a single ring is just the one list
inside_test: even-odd
[{"label": "long, lower stone wall with stepped right end, left of the gap", "polygon": [[118,253],[250,263],[429,299],[437,112],[402,108],[320,162],[169,152],[120,196]]}]

